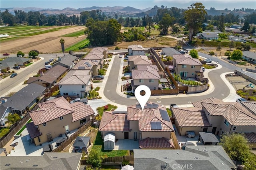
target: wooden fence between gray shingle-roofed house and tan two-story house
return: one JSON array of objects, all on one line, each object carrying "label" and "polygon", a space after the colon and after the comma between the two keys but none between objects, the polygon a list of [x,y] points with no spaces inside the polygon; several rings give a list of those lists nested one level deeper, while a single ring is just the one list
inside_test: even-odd
[{"label": "wooden fence between gray shingle-roofed house and tan two-story house", "polygon": [[4,146],[13,138],[13,136],[22,128],[27,121],[30,119],[30,115],[26,115],[23,117],[20,121],[16,122],[9,130],[9,133],[4,135],[0,139],[0,146],[1,148],[4,148]]}]

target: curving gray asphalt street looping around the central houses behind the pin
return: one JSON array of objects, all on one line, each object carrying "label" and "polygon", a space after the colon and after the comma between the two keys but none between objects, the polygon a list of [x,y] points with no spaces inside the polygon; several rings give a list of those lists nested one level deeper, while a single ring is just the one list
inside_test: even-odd
[{"label": "curving gray asphalt street looping around the central houses behind the pin", "polygon": [[[208,56],[206,56],[206,57],[208,57]],[[219,61],[219,63],[221,64],[222,61]],[[110,101],[113,101],[114,103],[117,103],[120,105],[134,105],[135,103],[138,102],[136,99],[131,99],[129,97],[125,98],[125,97],[118,95],[118,93],[116,93],[116,88],[121,88],[121,87],[116,87],[116,85],[118,84],[118,74],[117,73],[120,73],[119,72],[120,64],[121,64],[120,58],[115,57],[114,63],[110,70],[110,74],[108,76],[108,81],[105,85],[104,96],[107,99],[109,99]],[[220,75],[222,73],[230,72],[230,71],[232,71],[232,69],[222,67],[221,69],[216,69],[216,70],[210,71],[208,73],[208,76],[210,77],[210,80],[212,81],[212,83],[215,87],[214,91],[208,95],[198,95],[198,96],[189,96],[188,95],[188,97],[180,97],[178,95],[175,95],[177,97],[174,97],[172,95],[171,98],[161,98],[160,97],[158,99],[156,99],[156,98],[152,99],[152,97],[151,97],[150,101],[159,103],[161,105],[170,105],[170,103],[176,103],[177,105],[183,105],[186,103],[189,104],[194,101],[206,99],[208,97],[224,99],[229,95],[230,90],[229,90],[228,86],[224,83],[224,81],[222,81],[222,79],[220,78]]]}]

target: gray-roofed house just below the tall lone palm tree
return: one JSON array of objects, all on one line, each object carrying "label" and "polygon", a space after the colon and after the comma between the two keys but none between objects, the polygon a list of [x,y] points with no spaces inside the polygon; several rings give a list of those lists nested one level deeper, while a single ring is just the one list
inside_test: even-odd
[{"label": "gray-roofed house just below the tall lone palm tree", "polygon": [[55,67],[56,65],[61,65],[68,69],[72,69],[74,65],[77,63],[77,60],[78,60],[78,57],[71,54],[67,54],[67,55],[64,55],[63,57],[59,57],[58,61],[56,61],[52,65],[52,67]]}]

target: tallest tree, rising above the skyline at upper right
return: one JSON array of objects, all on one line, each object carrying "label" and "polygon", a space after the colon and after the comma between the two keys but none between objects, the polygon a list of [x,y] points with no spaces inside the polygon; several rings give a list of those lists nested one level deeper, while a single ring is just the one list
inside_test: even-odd
[{"label": "tallest tree, rising above the skyline at upper right", "polygon": [[204,21],[204,16],[207,12],[204,10],[202,3],[197,2],[190,5],[188,10],[184,12],[184,17],[189,28],[189,41],[191,42],[194,31],[198,30]]}]

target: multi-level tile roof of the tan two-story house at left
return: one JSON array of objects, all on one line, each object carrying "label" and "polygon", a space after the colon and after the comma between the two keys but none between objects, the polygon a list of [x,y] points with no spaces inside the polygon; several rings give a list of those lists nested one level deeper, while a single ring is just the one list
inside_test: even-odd
[{"label": "multi-level tile roof of the tan two-story house at left", "polygon": [[40,125],[68,114],[72,114],[73,122],[94,114],[89,105],[84,105],[81,102],[70,104],[64,97],[39,103],[38,106],[40,110],[30,112],[30,117],[35,125]]}]

